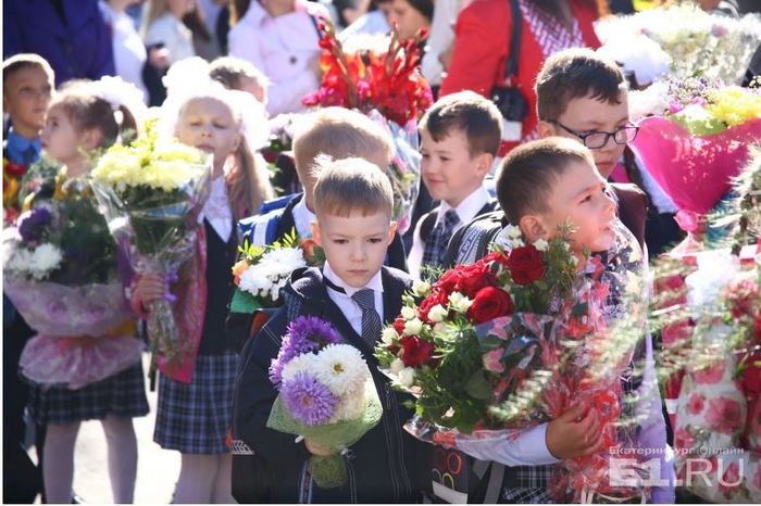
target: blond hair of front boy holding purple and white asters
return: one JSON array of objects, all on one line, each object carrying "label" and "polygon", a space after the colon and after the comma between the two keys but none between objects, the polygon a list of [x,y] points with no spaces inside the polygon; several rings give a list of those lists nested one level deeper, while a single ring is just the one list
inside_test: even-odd
[{"label": "blond hair of front boy holding purple and white asters", "polygon": [[387,213],[391,216],[394,191],[388,175],[364,159],[332,160],[320,156],[313,175],[314,211],[317,215],[348,217],[360,211],[363,216]]}]

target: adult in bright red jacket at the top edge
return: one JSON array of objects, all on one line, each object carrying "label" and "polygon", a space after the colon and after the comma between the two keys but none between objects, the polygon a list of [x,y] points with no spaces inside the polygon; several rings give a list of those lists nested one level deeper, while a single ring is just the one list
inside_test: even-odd
[{"label": "adult in bright red jacket at the top edge", "polygon": [[[460,12],[454,26],[452,62],[441,81],[440,94],[465,89],[490,97],[496,86],[517,87],[527,112],[519,128],[506,128],[501,153],[521,140],[536,137],[534,80],[545,59],[561,49],[590,47],[600,41],[592,22],[607,2],[595,0],[515,0],[521,15],[517,75],[504,83],[506,62],[512,48],[513,12],[510,0],[473,0]],[[604,5],[602,5],[604,4]]]}]

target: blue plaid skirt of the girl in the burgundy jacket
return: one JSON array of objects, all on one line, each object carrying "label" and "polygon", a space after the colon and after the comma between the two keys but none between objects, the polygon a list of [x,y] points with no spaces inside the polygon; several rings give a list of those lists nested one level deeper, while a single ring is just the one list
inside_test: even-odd
[{"label": "blue plaid skirt of the girl in the burgundy jacket", "polygon": [[199,355],[190,383],[159,378],[153,441],[182,453],[229,452],[237,353]]}]

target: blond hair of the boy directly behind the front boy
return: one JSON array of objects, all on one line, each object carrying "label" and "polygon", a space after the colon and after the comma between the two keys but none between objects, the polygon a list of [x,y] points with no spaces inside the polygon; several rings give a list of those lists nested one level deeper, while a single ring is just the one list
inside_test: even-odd
[{"label": "blond hair of the boy directly behind the front boy", "polygon": [[[294,139],[294,156],[299,178],[310,174],[317,155],[335,160],[350,156],[377,160],[386,153],[390,161],[394,144],[384,128],[367,116],[345,107],[325,107],[310,114],[299,125]],[[380,167],[386,169],[387,167]]]}]

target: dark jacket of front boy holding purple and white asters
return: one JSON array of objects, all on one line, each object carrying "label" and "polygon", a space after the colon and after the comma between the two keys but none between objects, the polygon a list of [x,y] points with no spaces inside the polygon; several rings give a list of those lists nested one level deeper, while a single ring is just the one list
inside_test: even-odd
[{"label": "dark jacket of front boy holding purple and white asters", "polygon": [[[384,320],[390,322],[401,311],[401,296],[410,287],[411,280],[404,273],[383,267]],[[284,306],[267,321],[261,331],[244,347],[235,393],[234,433],[242,440],[266,468],[266,480],[255,479],[259,488],[267,486],[269,492],[254,491],[248,497],[266,496],[270,502],[296,503],[414,503],[420,499],[415,465],[422,458],[419,450],[424,443],[417,442],[402,429],[411,412],[401,406],[409,399],[390,389],[385,376],[377,370],[377,362],[372,350],[354,332],[338,306],[328,298],[322,271],[317,268],[295,270],[284,289]],[[347,468],[349,479],[340,489],[319,489],[304,479],[303,467],[310,454],[303,443],[295,443],[292,434],[266,428],[277,392],[267,378],[267,369],[277,356],[280,341],[290,321],[298,316],[319,316],[330,321],[347,343],[362,352],[367,360],[375,385],[383,404],[380,422],[371,429],[349,450]],[[246,478],[239,478],[242,480]],[[248,477],[252,480],[253,477]],[[421,481],[417,481],[421,480]],[[265,483],[264,481],[267,481]],[[233,489],[241,490],[241,483],[233,479]],[[311,498],[309,490],[311,486]],[[246,499],[242,494],[236,498]]]}]

